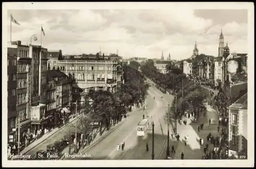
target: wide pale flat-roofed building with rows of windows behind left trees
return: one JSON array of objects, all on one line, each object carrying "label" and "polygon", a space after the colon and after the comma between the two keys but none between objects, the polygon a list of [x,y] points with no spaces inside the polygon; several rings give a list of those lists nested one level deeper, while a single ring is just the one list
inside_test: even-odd
[{"label": "wide pale flat-roofed building with rows of windows behind left trees", "polygon": [[119,60],[59,60],[60,70],[77,81],[84,93],[103,89],[115,92],[122,83],[122,62]]}]

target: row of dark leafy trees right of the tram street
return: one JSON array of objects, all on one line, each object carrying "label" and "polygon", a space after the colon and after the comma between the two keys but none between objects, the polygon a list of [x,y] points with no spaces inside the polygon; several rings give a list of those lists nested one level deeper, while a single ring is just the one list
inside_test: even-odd
[{"label": "row of dark leafy trees right of the tram street", "polygon": [[[141,66],[141,71],[145,76],[153,79],[159,86],[165,87],[169,91],[176,91],[176,103],[174,99],[170,108],[170,111],[173,112],[172,114],[177,112],[177,116],[182,116],[185,111],[199,113],[205,109],[204,103],[209,98],[208,90],[190,81],[182,73],[181,69],[173,66],[171,63],[167,64],[166,67],[169,71],[164,75],[154,66],[154,61],[149,59]],[[170,116],[170,118],[173,118],[173,116]]]}]

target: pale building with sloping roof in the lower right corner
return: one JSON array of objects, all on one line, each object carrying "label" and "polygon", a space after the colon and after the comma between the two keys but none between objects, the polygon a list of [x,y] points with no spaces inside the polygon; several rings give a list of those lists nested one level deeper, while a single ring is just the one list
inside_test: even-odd
[{"label": "pale building with sloping roof in the lower right corner", "polygon": [[228,107],[228,154],[247,156],[247,93]]}]

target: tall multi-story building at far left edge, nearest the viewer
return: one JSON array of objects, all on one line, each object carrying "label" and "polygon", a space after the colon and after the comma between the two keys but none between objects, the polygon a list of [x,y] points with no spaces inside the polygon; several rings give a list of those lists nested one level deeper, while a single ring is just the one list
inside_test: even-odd
[{"label": "tall multi-story building at far left edge, nearest the viewer", "polygon": [[22,45],[20,41],[11,42],[11,44],[8,46],[7,53],[9,117],[8,129],[9,132],[10,129],[13,131],[13,137],[17,139],[18,133],[17,131],[14,131],[14,129],[17,129],[18,126],[20,127],[20,133],[30,133],[31,57],[29,57],[29,46]]}]

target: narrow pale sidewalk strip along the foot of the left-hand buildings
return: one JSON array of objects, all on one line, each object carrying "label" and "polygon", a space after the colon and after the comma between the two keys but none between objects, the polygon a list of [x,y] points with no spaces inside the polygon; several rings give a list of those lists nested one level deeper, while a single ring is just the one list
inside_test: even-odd
[{"label": "narrow pale sidewalk strip along the foot of the left-hand buildings", "polygon": [[[81,114],[78,115],[78,117]],[[75,120],[75,117],[71,117],[68,121],[68,123],[64,126],[61,126],[60,128],[54,128],[52,131],[50,131],[49,133],[46,133],[44,135],[42,135],[39,139],[33,141],[31,144],[29,144],[27,147],[25,147],[25,149],[23,149],[22,151],[20,151],[20,154],[26,154],[27,152],[29,152],[31,149],[33,149],[34,147],[38,146],[38,144],[40,144],[41,142],[45,141],[47,138],[49,138],[50,136],[52,136],[53,134],[55,134],[57,131],[61,130],[63,127],[66,127],[68,124],[72,123]]]}]

